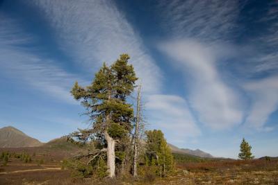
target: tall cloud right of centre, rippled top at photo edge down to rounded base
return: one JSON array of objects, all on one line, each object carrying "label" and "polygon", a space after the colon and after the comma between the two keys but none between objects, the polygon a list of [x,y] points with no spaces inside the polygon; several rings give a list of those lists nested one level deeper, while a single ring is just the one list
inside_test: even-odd
[{"label": "tall cloud right of centre, rippled top at photo edge down to rounded base", "polygon": [[222,80],[216,63],[221,52],[227,52],[220,44],[233,39],[238,1],[162,1],[160,8],[172,36],[158,48],[186,74],[188,103],[199,121],[216,130],[239,125],[240,100]]}]

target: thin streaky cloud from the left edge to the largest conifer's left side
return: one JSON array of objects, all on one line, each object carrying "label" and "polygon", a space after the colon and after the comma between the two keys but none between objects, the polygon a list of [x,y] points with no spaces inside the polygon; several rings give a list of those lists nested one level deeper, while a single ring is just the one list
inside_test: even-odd
[{"label": "thin streaky cloud from the left edge to the largest conifer's left side", "polygon": [[32,54],[0,49],[0,55],[2,73],[67,103],[76,103],[70,95],[76,76],[52,64],[44,64],[46,60]]}]

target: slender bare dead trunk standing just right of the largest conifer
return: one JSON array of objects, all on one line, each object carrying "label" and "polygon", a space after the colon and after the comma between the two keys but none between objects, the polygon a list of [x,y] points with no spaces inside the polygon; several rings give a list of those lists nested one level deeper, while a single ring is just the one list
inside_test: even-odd
[{"label": "slender bare dead trunk standing just right of the largest conifer", "polygon": [[139,125],[139,121],[140,121],[140,90],[141,90],[141,85],[138,87],[138,95],[137,95],[136,125],[135,125],[135,131],[134,131],[133,177],[137,176],[138,125]]}]

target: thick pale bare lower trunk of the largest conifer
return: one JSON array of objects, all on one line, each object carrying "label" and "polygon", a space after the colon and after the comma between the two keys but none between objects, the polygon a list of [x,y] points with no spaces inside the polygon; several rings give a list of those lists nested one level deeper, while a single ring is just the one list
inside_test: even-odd
[{"label": "thick pale bare lower trunk of the largest conifer", "polygon": [[109,136],[108,132],[104,132],[107,142],[107,167],[109,170],[109,177],[115,177],[115,140]]}]

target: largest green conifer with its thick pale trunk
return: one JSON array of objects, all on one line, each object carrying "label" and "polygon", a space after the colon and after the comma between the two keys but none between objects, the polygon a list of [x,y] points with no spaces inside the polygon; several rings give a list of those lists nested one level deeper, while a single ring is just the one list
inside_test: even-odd
[{"label": "largest green conifer with its thick pale trunk", "polygon": [[115,176],[115,145],[132,129],[133,107],[126,102],[138,79],[131,64],[129,55],[122,54],[111,67],[104,65],[95,74],[92,84],[72,88],[72,95],[87,109],[92,121],[88,130],[79,130],[78,139],[86,141],[92,138],[104,139],[107,152],[109,177]]}]

